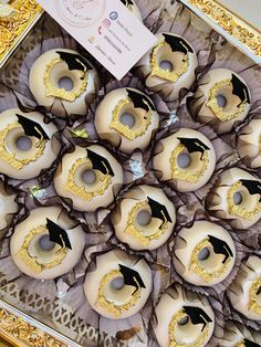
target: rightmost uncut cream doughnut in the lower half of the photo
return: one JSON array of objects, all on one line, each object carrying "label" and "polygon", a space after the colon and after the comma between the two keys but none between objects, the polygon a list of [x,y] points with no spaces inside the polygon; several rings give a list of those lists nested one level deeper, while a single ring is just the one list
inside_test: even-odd
[{"label": "rightmost uncut cream doughnut in the lower half of the photo", "polygon": [[212,286],[222,282],[234,261],[233,240],[218,224],[196,221],[191,228],[182,228],[175,240],[175,269],[195,285]]}]

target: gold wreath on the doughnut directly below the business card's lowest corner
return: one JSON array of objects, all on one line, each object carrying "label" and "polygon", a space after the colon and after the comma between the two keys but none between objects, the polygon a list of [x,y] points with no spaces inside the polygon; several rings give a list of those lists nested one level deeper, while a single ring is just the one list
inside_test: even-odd
[{"label": "gold wreath on the doughnut directly below the business card's lowest corner", "polygon": [[[118,102],[117,106],[113,111],[113,117],[109,126],[112,129],[115,129],[119,134],[124,135],[126,138],[134,140],[136,137],[143,136],[146,133],[148,126],[152,124],[152,112],[148,111],[146,113],[146,116],[140,119],[142,123],[139,127],[135,127],[135,129],[132,129],[127,125],[124,125],[119,122],[119,114],[122,108],[130,103],[133,103],[130,97],[123,98]],[[149,104],[145,99],[144,103],[149,107]]]}]

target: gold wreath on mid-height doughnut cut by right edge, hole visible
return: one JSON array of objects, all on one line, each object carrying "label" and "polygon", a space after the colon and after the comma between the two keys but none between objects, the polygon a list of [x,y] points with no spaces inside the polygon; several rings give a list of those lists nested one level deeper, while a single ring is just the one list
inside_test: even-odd
[{"label": "gold wreath on mid-height doughnut cut by right edge, hole visible", "polygon": [[255,209],[253,211],[248,211],[246,207],[241,207],[240,204],[234,204],[233,196],[234,193],[242,187],[242,182],[238,181],[228,191],[228,210],[232,215],[241,217],[248,220],[253,220],[255,214],[261,212],[261,202],[258,202]]}]

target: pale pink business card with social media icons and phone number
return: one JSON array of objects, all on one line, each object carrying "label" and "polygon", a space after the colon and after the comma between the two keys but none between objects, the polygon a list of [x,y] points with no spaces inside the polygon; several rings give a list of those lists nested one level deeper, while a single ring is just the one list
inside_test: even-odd
[{"label": "pale pink business card with social media icons and phone number", "polygon": [[157,41],[121,0],[38,0],[117,80]]}]

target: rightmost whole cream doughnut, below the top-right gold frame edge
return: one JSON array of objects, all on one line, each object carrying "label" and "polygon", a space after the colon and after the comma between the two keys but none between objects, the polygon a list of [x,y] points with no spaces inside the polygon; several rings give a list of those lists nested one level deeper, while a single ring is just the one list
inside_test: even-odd
[{"label": "rightmost whole cream doughnut, below the top-right gold frame edge", "polygon": [[200,81],[190,104],[201,123],[210,124],[217,133],[227,133],[243,120],[250,108],[250,92],[236,72],[227,69],[210,70]]}]

